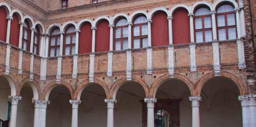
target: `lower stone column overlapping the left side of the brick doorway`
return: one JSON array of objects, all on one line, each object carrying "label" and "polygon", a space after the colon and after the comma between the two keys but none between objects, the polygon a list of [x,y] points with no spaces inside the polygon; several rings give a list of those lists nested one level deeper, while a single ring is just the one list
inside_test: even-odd
[{"label": "lower stone column overlapping the left side of the brick doorway", "polygon": [[156,98],[145,98],[144,102],[147,103],[148,108],[147,127],[155,127],[154,104],[156,103]]}]

